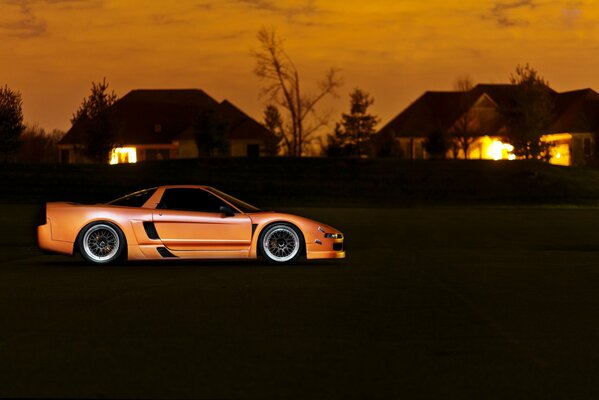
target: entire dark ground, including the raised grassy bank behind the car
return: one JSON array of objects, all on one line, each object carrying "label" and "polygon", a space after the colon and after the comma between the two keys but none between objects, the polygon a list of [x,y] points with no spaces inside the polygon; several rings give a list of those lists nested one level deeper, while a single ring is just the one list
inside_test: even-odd
[{"label": "entire dark ground, including the raised grassy bank behind the car", "polygon": [[[597,398],[599,171],[217,159],[0,170],[0,397]],[[92,267],[39,203],[214,185],[345,260]]]}]

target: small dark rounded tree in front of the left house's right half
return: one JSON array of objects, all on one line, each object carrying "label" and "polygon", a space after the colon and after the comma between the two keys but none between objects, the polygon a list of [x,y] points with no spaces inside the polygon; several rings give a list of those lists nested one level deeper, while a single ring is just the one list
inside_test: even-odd
[{"label": "small dark rounded tree in front of the left house's right half", "polygon": [[214,110],[205,110],[193,124],[193,133],[199,156],[226,155],[229,151],[229,124],[219,118]]}]

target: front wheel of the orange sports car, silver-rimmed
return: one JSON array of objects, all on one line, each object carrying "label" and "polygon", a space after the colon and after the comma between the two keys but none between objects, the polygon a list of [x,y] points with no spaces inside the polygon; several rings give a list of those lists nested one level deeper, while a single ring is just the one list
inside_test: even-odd
[{"label": "front wheel of the orange sports car, silver-rimmed", "polygon": [[269,262],[287,264],[303,254],[304,237],[293,225],[275,223],[260,233],[258,246],[262,256]]}]

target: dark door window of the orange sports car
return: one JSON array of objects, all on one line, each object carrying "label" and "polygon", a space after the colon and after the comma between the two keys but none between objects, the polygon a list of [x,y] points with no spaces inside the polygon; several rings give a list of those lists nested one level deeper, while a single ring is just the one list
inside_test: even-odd
[{"label": "dark door window of the orange sports car", "polygon": [[202,189],[174,188],[164,191],[158,208],[219,213],[220,207],[226,205],[227,203]]}]

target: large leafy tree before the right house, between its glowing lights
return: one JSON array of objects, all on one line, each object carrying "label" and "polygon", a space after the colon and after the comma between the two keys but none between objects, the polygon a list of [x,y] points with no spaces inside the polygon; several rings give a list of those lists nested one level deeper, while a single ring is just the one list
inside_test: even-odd
[{"label": "large leafy tree before the right house, between its glowing lights", "polygon": [[503,110],[508,119],[505,141],[514,146],[513,153],[526,159],[551,158],[551,144],[541,140],[549,127],[554,98],[549,83],[530,65],[518,65],[510,76],[515,85],[510,106]]}]

